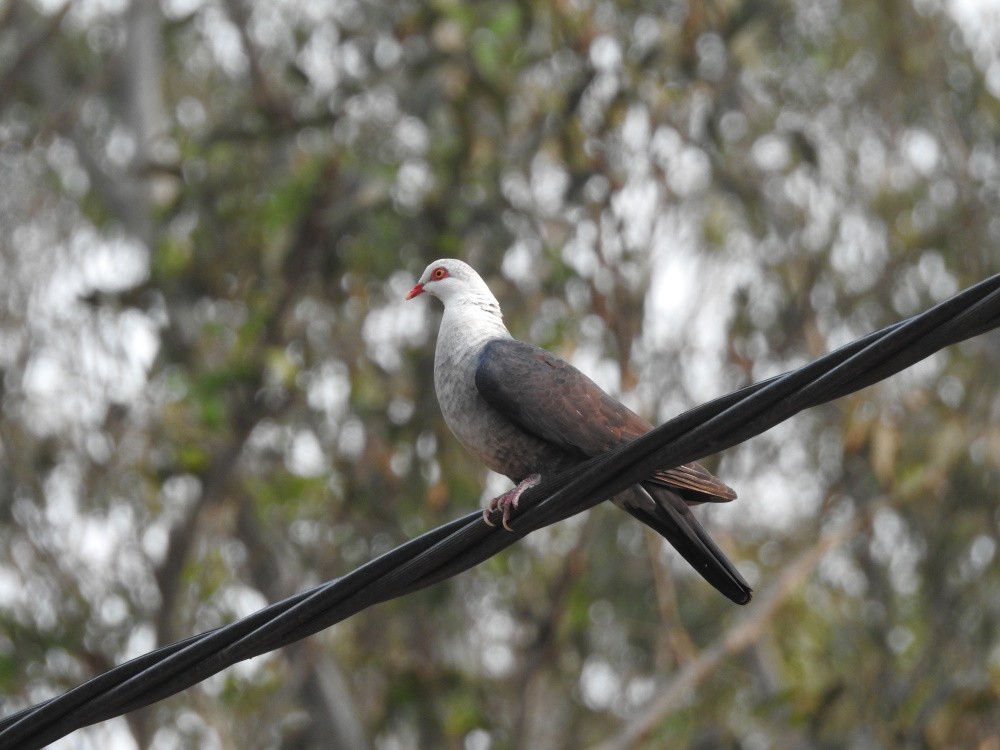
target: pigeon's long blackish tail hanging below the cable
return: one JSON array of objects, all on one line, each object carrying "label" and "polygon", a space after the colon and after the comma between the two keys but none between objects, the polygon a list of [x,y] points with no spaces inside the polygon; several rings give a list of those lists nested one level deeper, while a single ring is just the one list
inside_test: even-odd
[{"label": "pigeon's long blackish tail hanging below the cable", "polygon": [[678,494],[646,483],[615,496],[613,502],[670,542],[691,567],[727,597],[737,604],[750,601],[753,589]]}]

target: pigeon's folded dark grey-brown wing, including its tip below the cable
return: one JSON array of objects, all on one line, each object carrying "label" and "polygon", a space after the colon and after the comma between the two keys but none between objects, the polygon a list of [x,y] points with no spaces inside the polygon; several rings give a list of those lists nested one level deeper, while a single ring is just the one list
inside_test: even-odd
[{"label": "pigeon's folded dark grey-brown wing, including its tip below the cable", "polygon": [[[573,365],[533,344],[494,339],[476,368],[486,402],[526,432],[591,458],[652,429]],[[657,472],[650,481],[679,491],[690,504],[726,502],[732,488],[697,463]]]}]

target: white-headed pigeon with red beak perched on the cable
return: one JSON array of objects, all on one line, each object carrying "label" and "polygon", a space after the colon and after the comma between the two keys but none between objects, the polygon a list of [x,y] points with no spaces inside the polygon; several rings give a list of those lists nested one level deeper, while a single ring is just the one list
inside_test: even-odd
[{"label": "white-headed pigeon with red beak perched on the cable", "polygon": [[[624,445],[652,429],[573,365],[515,339],[500,303],[464,261],[431,263],[406,294],[444,304],[434,352],[434,390],[445,423],[472,455],[514,488],[493,498],[510,530],[521,495],[559,472]],[[729,502],[736,492],[698,463],[656,471],[611,501],[663,536],[722,594],[746,604],[752,589],[691,512]]]}]

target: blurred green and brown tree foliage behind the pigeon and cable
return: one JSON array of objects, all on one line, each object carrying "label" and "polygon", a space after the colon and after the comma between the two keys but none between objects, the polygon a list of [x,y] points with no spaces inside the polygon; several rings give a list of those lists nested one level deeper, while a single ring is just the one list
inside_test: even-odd
[{"label": "blurred green and brown tree foliage behind the pigeon and cable", "polygon": [[[654,422],[1000,271],[1000,3],[0,3],[0,712],[504,489],[431,260]],[[1000,748],[1000,337],[73,748]]]}]

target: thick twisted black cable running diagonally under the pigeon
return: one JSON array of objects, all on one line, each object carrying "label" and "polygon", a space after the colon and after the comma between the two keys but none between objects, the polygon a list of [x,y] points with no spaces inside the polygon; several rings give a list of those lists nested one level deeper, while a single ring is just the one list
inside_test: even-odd
[{"label": "thick twisted black cable running diagonally under the pigeon", "polygon": [[620,449],[546,477],[522,497],[513,532],[487,526],[481,513],[470,513],[341,578],[231,625],[140,656],[0,719],[0,750],[43,747],[76,729],[173,695],[239,661],[300,640],[373,604],[450,578],[530,532],[630,487],[654,469],[717,453],[803,409],[860,390],[945,346],[998,326],[1000,275],[797,370],[691,409]]}]

